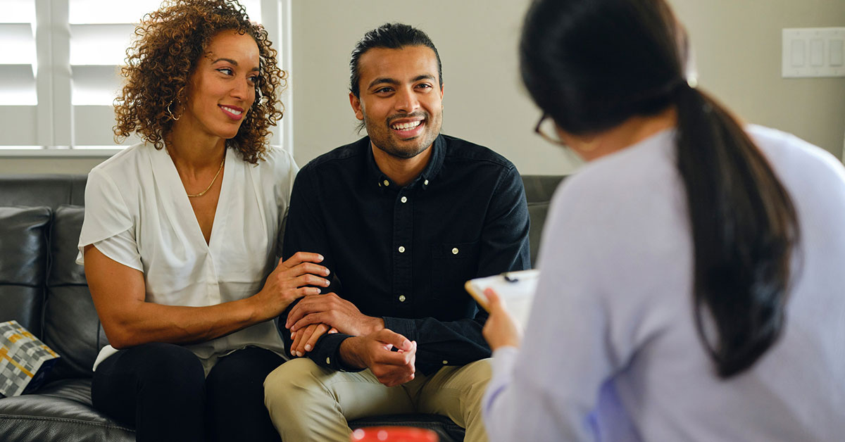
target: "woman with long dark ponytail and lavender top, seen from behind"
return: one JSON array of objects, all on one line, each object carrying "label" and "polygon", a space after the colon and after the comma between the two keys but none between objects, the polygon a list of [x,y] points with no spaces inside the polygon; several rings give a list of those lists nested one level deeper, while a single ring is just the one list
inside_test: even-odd
[{"label": "woman with long dark ponytail and lavender top, seen from behind", "polygon": [[663,0],[536,0],[537,132],[587,161],[553,197],[525,337],[492,291],[495,440],[845,434],[845,169],[698,87]]}]

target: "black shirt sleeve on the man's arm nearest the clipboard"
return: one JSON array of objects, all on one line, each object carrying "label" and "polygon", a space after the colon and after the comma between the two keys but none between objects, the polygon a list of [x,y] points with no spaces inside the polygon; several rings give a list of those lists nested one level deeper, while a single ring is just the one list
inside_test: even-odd
[{"label": "black shirt sleeve on the man's arm nearest the clipboard", "polygon": [[[529,223],[525,188],[516,167],[510,166],[500,174],[493,191],[481,232],[477,273],[466,279],[528,269]],[[477,304],[476,309],[474,318],[449,322],[385,317],[384,326],[417,341],[417,364],[421,368],[464,365],[490,357],[490,347],[482,336],[488,314]]]}]

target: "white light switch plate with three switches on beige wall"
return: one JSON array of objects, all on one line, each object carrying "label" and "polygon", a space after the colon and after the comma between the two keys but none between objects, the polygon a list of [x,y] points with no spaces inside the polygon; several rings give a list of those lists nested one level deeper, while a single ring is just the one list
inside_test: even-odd
[{"label": "white light switch plate with three switches on beige wall", "polygon": [[845,77],[845,28],[790,28],[783,35],[783,78]]}]

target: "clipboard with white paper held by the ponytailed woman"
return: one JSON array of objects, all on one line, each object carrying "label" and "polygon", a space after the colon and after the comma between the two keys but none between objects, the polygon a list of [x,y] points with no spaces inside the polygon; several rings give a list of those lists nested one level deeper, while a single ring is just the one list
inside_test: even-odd
[{"label": "clipboard with white paper held by the ponytailed woman", "polygon": [[464,286],[466,292],[469,292],[485,310],[488,308],[484,290],[488,287],[493,288],[493,291],[504,300],[505,308],[525,328],[539,279],[540,270],[509,271],[501,275],[472,279],[466,281]]}]

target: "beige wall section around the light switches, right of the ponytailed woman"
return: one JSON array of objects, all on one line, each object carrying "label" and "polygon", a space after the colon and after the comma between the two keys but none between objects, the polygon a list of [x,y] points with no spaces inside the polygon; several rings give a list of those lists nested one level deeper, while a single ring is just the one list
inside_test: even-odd
[{"label": "beige wall section around the light switches, right of the ponytailed woman", "polygon": [[690,31],[706,90],[751,123],[842,156],[845,78],[782,79],[781,29],[845,27],[845,1],[669,2]]}]

